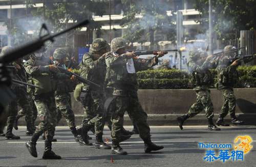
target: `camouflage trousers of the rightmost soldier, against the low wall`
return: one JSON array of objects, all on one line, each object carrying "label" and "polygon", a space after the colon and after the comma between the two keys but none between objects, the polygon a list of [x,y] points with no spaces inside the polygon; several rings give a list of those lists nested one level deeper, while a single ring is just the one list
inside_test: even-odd
[{"label": "camouflage trousers of the rightmost soldier, against the low wall", "polygon": [[224,118],[228,113],[231,117],[234,116],[234,111],[236,110],[236,97],[234,96],[233,89],[222,89],[221,93],[224,97],[224,103],[221,108],[220,116]]}]

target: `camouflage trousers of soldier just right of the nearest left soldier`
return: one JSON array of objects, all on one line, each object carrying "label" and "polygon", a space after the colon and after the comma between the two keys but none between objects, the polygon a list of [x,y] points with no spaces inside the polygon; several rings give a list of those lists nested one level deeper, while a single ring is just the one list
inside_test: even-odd
[{"label": "camouflage trousers of soldier just right of the nearest left soldier", "polygon": [[57,109],[57,124],[63,116],[66,119],[69,127],[75,127],[75,115],[71,108],[70,94],[55,94],[55,103]]}]

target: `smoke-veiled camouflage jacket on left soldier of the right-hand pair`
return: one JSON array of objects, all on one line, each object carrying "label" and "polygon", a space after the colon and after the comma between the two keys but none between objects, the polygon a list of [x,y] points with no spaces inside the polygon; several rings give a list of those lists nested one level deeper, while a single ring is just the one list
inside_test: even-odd
[{"label": "smoke-veiled camouflage jacket on left soldier of the right-hand pair", "polygon": [[213,77],[209,71],[210,68],[214,68],[215,64],[205,61],[193,61],[190,60],[188,63],[188,68],[192,73],[192,82],[194,85],[194,90],[208,90],[209,86],[213,83]]}]

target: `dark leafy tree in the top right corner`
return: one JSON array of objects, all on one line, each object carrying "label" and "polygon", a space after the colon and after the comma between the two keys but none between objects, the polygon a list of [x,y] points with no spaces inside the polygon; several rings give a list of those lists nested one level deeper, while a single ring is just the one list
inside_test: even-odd
[{"label": "dark leafy tree in the top right corner", "polygon": [[[195,9],[201,12],[200,21],[208,29],[208,0],[196,0]],[[216,0],[212,1],[214,30],[218,39],[238,38],[240,30],[255,30],[256,1]]]}]

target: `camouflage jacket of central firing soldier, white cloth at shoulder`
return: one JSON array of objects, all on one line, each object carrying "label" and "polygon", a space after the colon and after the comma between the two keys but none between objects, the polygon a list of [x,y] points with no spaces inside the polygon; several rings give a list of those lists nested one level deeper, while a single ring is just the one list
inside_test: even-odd
[{"label": "camouflage jacket of central firing soldier, white cloth at shoulder", "polygon": [[[138,82],[136,73],[128,73],[126,69],[127,58],[125,54],[115,55],[109,52],[106,57],[106,82],[108,87],[114,88],[114,95],[126,95],[127,93],[137,94]],[[134,59],[135,71],[147,70],[158,63],[158,58],[142,62]],[[119,91],[119,93],[118,93]]]}]

